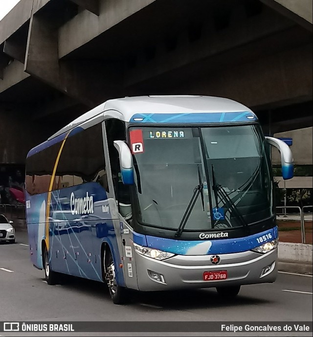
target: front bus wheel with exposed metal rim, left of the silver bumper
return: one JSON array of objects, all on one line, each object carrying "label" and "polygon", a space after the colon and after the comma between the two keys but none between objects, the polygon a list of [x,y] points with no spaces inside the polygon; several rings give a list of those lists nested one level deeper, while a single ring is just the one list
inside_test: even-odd
[{"label": "front bus wheel with exposed metal rim, left of the silver bumper", "polygon": [[127,302],[127,290],[117,285],[115,278],[115,265],[110,251],[107,263],[105,265],[105,278],[109,288],[110,296],[114,304],[124,304]]}]

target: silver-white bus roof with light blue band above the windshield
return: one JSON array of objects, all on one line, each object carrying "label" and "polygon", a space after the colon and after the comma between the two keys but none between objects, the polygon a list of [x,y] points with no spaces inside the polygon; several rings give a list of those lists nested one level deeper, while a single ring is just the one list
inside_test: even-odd
[{"label": "silver-white bus roof with light blue band above the windshield", "polygon": [[[170,116],[169,116],[170,115]],[[188,115],[188,119],[182,116]],[[214,115],[214,117],[213,117]],[[226,116],[226,117],[225,117]],[[228,116],[228,118],[227,118]],[[240,120],[239,117],[242,119]],[[192,95],[150,95],[110,99],[67,124],[47,141],[30,150],[28,156],[57,143],[76,127],[88,128],[108,118],[137,123],[207,123],[257,120],[255,114],[241,103],[228,98]]]}]

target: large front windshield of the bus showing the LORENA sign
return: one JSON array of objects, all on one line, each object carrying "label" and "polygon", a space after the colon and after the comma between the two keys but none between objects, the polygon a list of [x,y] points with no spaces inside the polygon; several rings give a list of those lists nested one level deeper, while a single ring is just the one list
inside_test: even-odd
[{"label": "large front windshield of the bus showing the LORENA sign", "polygon": [[[184,231],[225,230],[273,215],[258,125],[131,128],[130,139],[139,223],[177,230],[198,186]],[[134,151],[138,139],[143,147]]]}]

